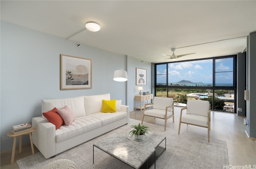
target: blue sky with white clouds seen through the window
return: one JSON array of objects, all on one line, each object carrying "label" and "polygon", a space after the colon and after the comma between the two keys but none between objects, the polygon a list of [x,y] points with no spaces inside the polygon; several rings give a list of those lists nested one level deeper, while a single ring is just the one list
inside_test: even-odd
[{"label": "blue sky with white clouds seen through the window", "polygon": [[[216,59],[216,84],[233,83],[233,57]],[[182,80],[212,84],[213,59],[168,64],[168,83]],[[166,65],[157,65],[157,83],[166,83]],[[231,71],[231,72],[230,72]]]}]

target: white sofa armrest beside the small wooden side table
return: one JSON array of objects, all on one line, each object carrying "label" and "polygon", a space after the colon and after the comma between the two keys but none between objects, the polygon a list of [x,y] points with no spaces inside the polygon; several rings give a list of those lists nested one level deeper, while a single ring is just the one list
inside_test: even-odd
[{"label": "white sofa armrest beside the small wooden side table", "polygon": [[36,130],[32,132],[32,139],[38,150],[45,158],[56,155],[55,125],[40,116],[32,118],[32,126],[36,128]]}]

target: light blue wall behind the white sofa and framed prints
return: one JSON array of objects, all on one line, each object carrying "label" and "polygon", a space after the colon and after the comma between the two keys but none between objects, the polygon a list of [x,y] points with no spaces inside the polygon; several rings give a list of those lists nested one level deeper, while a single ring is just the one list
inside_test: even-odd
[{"label": "light blue wall behind the white sofa and framed prints", "polygon": [[[1,21],[0,30],[1,152],[12,148],[13,139],[2,141],[2,137],[12,130],[13,125],[31,122],[33,117],[41,116],[42,99],[110,93],[111,99],[128,98],[127,105],[133,110],[135,67],[150,67],[139,66],[138,60],[126,55],[84,44],[76,47],[77,42],[8,22]],[[60,54],[92,59],[91,89],[60,90]],[[113,81],[114,71],[127,70],[127,67],[128,82]],[[145,90],[150,90],[150,85]],[[28,136],[23,140],[23,145],[29,143]]]}]

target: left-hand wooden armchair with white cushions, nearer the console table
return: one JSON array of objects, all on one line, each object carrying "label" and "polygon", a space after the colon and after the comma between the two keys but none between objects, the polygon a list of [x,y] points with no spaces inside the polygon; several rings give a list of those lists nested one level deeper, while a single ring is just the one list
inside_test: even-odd
[{"label": "left-hand wooden armchair with white cushions, nearer the console table", "polygon": [[[153,105],[152,109],[146,110],[146,106]],[[164,119],[164,131],[166,130],[167,119],[172,117],[174,122],[174,100],[168,97],[154,97],[154,103],[144,105],[141,124],[143,124],[144,116]]]}]

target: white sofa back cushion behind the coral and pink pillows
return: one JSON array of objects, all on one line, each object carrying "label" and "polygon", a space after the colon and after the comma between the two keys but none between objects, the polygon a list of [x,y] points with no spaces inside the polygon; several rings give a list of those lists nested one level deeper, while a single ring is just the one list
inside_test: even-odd
[{"label": "white sofa back cushion behind the coral and pink pillows", "polygon": [[65,106],[68,106],[72,110],[72,112],[74,112],[75,117],[86,115],[84,109],[84,96],[42,100],[42,112],[48,112],[54,107],[56,107],[57,109],[62,109]]}]

